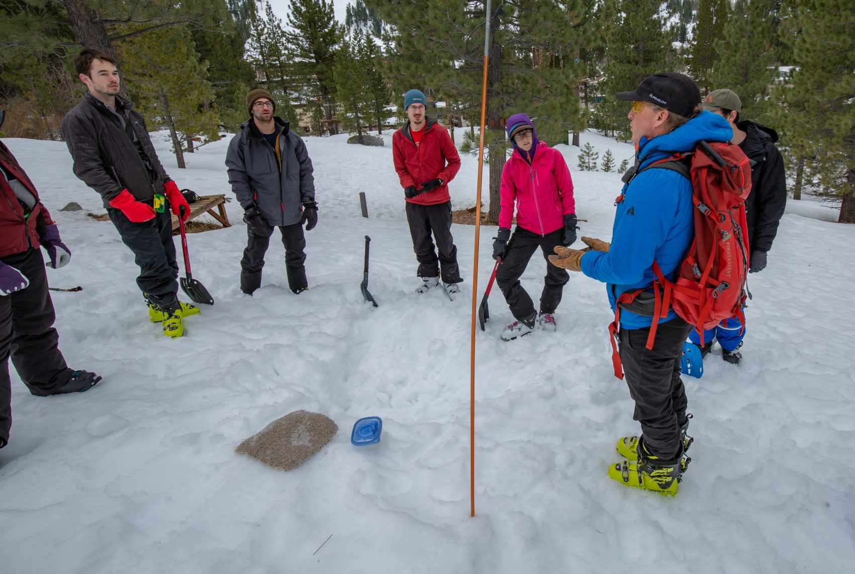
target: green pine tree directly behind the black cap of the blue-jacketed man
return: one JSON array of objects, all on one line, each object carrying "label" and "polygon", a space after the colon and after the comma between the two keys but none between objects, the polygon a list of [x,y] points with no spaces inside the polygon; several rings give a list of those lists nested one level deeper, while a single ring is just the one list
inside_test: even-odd
[{"label": "green pine tree directly behind the black cap of the blue-jacketed man", "polygon": [[606,135],[630,137],[628,102],[616,99],[616,92],[634,90],[648,75],[669,69],[673,33],[664,25],[661,8],[658,0],[604,3],[604,98],[597,104],[596,126]]}]

